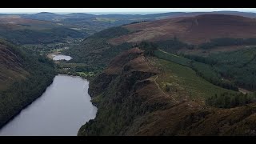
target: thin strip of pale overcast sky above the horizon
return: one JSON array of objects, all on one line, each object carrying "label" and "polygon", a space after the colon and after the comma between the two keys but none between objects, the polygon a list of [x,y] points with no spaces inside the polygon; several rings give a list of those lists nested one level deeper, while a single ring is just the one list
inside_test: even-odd
[{"label": "thin strip of pale overcast sky above the horizon", "polygon": [[1,14],[31,14],[40,12],[51,13],[88,13],[88,14],[154,14],[164,12],[199,12],[232,10],[256,12],[255,8],[0,8]]}]

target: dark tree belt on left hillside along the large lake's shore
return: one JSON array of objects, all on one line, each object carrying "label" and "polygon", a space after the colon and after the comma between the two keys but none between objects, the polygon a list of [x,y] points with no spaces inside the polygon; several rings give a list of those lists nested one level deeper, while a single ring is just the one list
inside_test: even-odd
[{"label": "dark tree belt on left hillside along the large lake's shore", "polygon": [[49,58],[19,47],[12,48],[22,51],[18,56],[22,57],[22,66],[29,75],[22,81],[15,81],[7,90],[0,91],[0,127],[41,96],[55,75],[54,62]]}]

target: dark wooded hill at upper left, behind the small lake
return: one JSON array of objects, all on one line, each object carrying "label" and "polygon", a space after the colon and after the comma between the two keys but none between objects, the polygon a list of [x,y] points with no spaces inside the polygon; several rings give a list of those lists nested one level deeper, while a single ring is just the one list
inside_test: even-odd
[{"label": "dark wooded hill at upper left, behind the small lake", "polygon": [[85,38],[86,32],[55,22],[27,18],[0,18],[0,37],[15,44],[65,42],[65,38]]}]

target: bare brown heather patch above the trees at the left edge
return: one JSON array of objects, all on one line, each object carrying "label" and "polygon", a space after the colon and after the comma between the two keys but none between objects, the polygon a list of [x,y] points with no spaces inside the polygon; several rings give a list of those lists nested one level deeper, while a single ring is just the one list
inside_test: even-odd
[{"label": "bare brown heather patch above the trees at the left edge", "polygon": [[18,79],[24,79],[27,74],[26,70],[22,69],[22,58],[0,42],[0,90]]}]

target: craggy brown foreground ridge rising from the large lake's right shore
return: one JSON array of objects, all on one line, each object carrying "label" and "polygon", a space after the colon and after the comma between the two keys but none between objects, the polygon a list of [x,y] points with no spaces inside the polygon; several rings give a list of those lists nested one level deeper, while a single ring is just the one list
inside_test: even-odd
[{"label": "craggy brown foreground ridge rising from the large lake's right shore", "polygon": [[127,50],[90,82],[94,120],[78,135],[256,135],[256,104],[232,109],[200,105],[162,90],[166,71],[138,48]]}]

